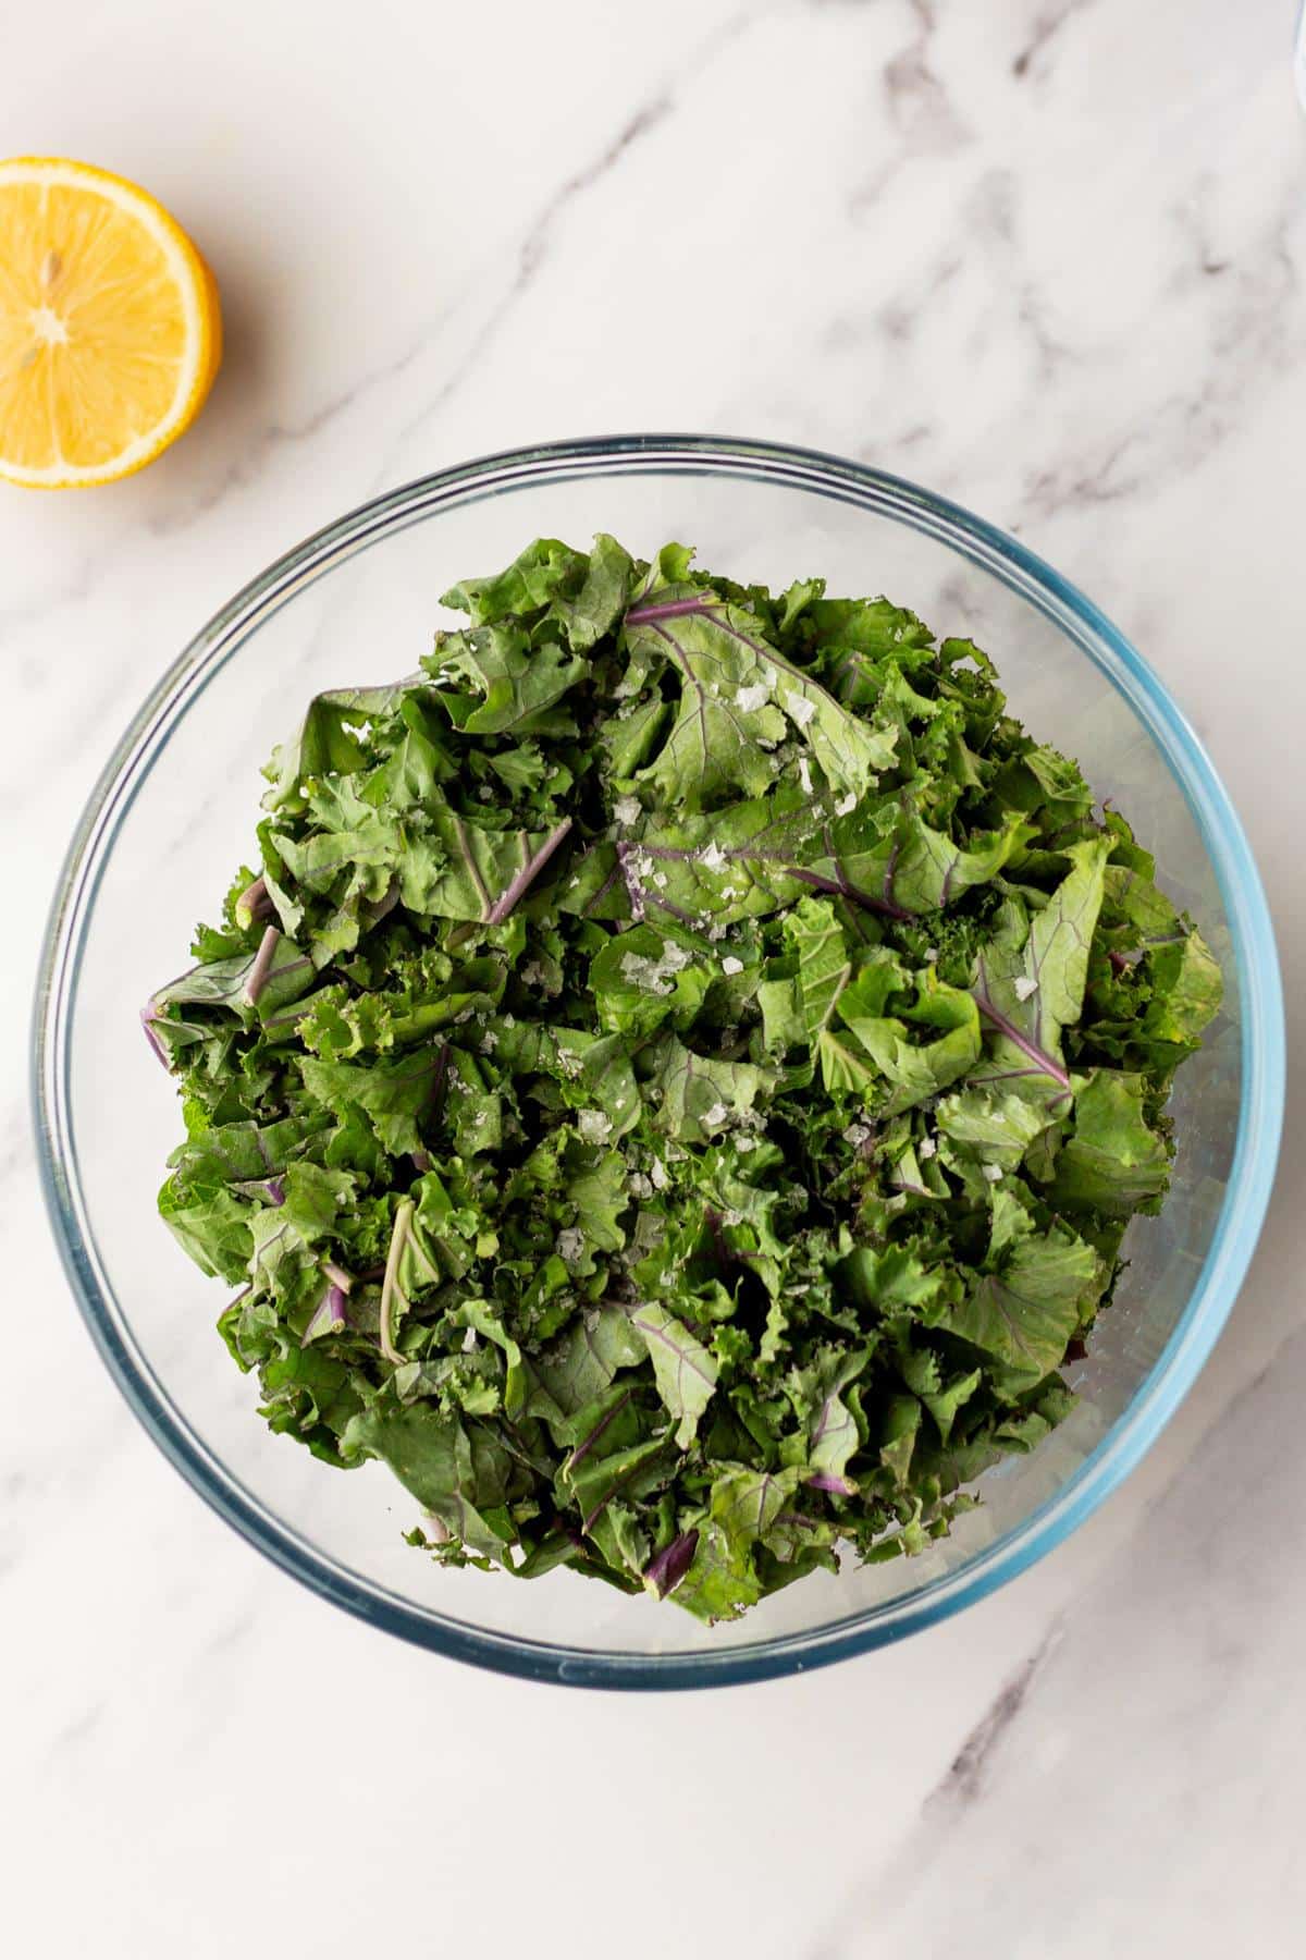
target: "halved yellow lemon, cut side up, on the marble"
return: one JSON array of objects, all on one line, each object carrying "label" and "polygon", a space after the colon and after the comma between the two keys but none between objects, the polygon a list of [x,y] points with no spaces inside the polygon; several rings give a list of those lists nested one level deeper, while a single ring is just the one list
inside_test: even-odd
[{"label": "halved yellow lemon, cut side up, on the marble", "polygon": [[0,476],[129,476],[190,427],[219,361],[213,274],[155,198],[63,157],[0,163]]}]

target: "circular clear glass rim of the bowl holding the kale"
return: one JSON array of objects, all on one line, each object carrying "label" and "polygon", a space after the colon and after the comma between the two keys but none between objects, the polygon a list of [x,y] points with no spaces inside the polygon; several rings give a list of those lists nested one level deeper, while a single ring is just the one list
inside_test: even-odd
[{"label": "circular clear glass rim of the bowl holding the kale", "polygon": [[[897,1601],[752,1644],[677,1652],[568,1648],[423,1611],[339,1566],[225,1470],[170,1401],[119,1321],[82,1201],[69,1047],[80,953],[121,821],[172,727],[215,672],[298,590],[368,545],[456,502],[531,482],[621,474],[719,474],[816,492],[891,515],[1032,602],[1124,694],[1175,776],[1230,917],[1241,1021],[1237,1141],[1216,1233],[1165,1348],[1134,1399],[1073,1476],[967,1564]],[[476,1666],[585,1688],[715,1688],[826,1666],[961,1611],[1069,1537],[1136,1468],[1206,1362],[1241,1286],[1275,1178],[1284,1107],[1284,1015],[1275,933],[1243,827],[1200,739],[1138,649],[1038,553],[950,498],[818,449],[726,435],[615,435],[495,451],[360,504],[282,553],[243,586],[166,668],[114,747],[69,845],[45,931],[31,1043],[31,1103],[47,1211],[74,1299],[110,1374],[147,1433],[235,1531],[325,1599],[386,1633]]]}]

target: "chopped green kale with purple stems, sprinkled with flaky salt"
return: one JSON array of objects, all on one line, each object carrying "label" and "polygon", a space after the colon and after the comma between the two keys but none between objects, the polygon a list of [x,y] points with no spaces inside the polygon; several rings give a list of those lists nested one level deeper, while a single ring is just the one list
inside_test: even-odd
[{"label": "chopped green kale with purple stems, sprinkled with flaky salt", "polygon": [[145,1033],[260,1411],[435,1558],[730,1619],[1038,1446],[1220,972],[993,662],[538,539],[319,696]]}]

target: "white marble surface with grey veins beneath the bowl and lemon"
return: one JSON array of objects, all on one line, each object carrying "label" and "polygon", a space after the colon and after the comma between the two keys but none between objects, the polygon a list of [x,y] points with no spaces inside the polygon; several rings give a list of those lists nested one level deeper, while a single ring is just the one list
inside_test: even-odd
[{"label": "white marble surface with grey veins beneath the bowl and lemon", "polygon": [[1067,1546],[891,1652],[615,1699],[388,1642],[206,1511],[82,1333],[22,1086],[59,857],[182,639],[384,486],[634,427],[903,470],[1093,592],[1245,815],[1300,1047],[1292,12],[69,0],[6,22],[4,143],[153,186],[229,325],[210,410],[157,466],[0,496],[8,1950],[1300,1952],[1300,1103],[1210,1368]]}]

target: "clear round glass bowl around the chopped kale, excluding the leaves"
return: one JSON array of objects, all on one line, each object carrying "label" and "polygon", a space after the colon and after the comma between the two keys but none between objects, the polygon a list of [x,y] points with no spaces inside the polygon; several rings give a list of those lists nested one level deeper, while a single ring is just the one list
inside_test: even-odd
[{"label": "clear round glass bowl around the chopped kale, excluding the leaves", "polygon": [[[1079,757],[1130,815],[1224,966],[1226,1007],[1179,1072],[1165,1213],[1128,1270],[1075,1415],[981,1482],[952,1537],[777,1593],[707,1629],[672,1605],[556,1572],[441,1570],[401,1543],[413,1499],[382,1464],[341,1476],[255,1413],[213,1329],[225,1294],[155,1211],[180,1107],[139,1007],[184,964],[253,845],[258,764],[321,688],[411,670],[456,576],[540,533],[666,539],[773,586],[822,572],[887,592],[999,661],[1014,711]],[[452,619],[446,619],[452,623]],[[190,643],[117,745],[78,825],[49,927],[35,1100],[72,1290],[127,1401],[237,1531],[323,1597],[423,1646],[509,1674],[695,1688],[813,1668],[956,1613],[1067,1537],[1140,1460],[1206,1360],[1265,1211],[1283,1113],[1283,1000],[1241,825],[1179,708],[1126,639],[1024,545],[856,463],[719,437],[558,443],[441,470],[278,559]]]}]

